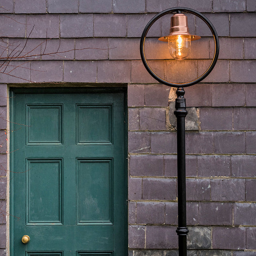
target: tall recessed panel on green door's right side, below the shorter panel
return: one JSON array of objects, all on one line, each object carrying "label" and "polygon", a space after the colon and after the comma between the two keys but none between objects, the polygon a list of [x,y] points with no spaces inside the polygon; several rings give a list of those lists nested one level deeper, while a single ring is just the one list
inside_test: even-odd
[{"label": "tall recessed panel on green door's right side, below the shorter panel", "polygon": [[112,159],[77,160],[78,224],[112,224]]}]

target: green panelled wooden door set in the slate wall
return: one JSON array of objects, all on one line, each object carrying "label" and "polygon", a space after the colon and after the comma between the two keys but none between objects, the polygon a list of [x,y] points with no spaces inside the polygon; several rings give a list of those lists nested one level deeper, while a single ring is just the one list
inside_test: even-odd
[{"label": "green panelled wooden door set in the slate wall", "polygon": [[36,91],[11,95],[12,256],[126,255],[124,92]]}]

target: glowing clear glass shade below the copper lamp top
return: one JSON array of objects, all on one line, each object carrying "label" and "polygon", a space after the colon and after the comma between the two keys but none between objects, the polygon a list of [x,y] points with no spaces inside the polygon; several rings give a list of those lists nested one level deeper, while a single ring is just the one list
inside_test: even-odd
[{"label": "glowing clear glass shade below the copper lamp top", "polygon": [[171,56],[175,60],[184,60],[190,54],[190,35],[168,36],[168,48]]}]

